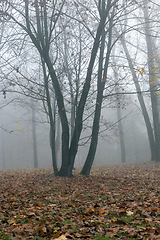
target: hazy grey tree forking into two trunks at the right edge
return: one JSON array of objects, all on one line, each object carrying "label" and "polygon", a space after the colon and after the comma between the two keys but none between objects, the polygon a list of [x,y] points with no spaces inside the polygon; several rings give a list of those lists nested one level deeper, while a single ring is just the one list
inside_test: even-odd
[{"label": "hazy grey tree forking into two trunks at the right edge", "polygon": [[[141,28],[142,28],[142,32],[144,31],[145,33],[145,38],[146,38],[146,41],[147,41],[147,49],[148,50],[145,50],[148,52],[148,69],[149,69],[149,76],[150,76],[150,79],[152,80],[149,80],[149,85],[150,85],[150,94],[151,94],[151,103],[152,103],[152,109],[154,109],[154,111],[152,111],[152,115],[153,115],[153,119],[155,119],[153,121],[153,126],[156,126],[156,129],[157,130],[154,130],[154,133],[153,133],[153,129],[152,129],[152,120],[150,120],[150,116],[149,116],[149,113],[148,113],[148,110],[147,110],[147,107],[146,107],[146,103],[145,103],[145,100],[144,100],[144,95],[143,95],[143,90],[141,89],[141,81],[142,81],[142,77],[144,77],[144,75],[146,74],[146,71],[145,71],[145,68],[144,67],[137,67],[136,64],[138,65],[138,63],[136,63],[136,60],[134,58],[132,58],[131,56],[131,53],[129,52],[129,48],[127,47],[127,44],[131,45],[133,47],[133,43],[130,43],[129,39],[128,39],[128,35],[126,37],[126,28],[127,28],[127,24],[128,24],[128,15],[126,14],[126,19],[124,20],[124,24],[123,26],[121,26],[122,28],[122,35],[120,35],[119,37],[119,40],[122,44],[122,47],[123,47],[123,50],[124,50],[124,53],[125,53],[125,56],[126,56],[126,59],[128,61],[128,67],[130,69],[130,72],[131,72],[131,75],[132,75],[132,79],[133,79],[133,83],[134,83],[134,86],[135,86],[135,89],[137,91],[137,97],[138,97],[138,100],[139,100],[139,103],[140,103],[140,106],[141,106],[141,110],[142,110],[142,114],[143,114],[143,117],[144,117],[144,121],[145,121],[145,124],[146,124],[146,128],[147,128],[147,133],[148,133],[148,139],[149,139],[149,143],[150,143],[150,150],[151,150],[151,160],[152,161],[157,161],[159,159],[158,157],[158,145],[157,145],[157,142],[159,141],[159,130],[158,130],[158,108],[157,108],[157,101],[158,101],[158,95],[155,94],[155,92],[158,93],[158,89],[157,89],[157,84],[154,84],[154,78],[156,78],[156,81],[157,81],[157,77],[156,77],[156,73],[155,71],[153,71],[153,69],[158,69],[156,68],[155,66],[155,58],[154,58],[154,53],[153,53],[153,36],[152,36],[152,32],[151,32],[151,27],[150,27],[150,24],[152,22],[151,19],[149,19],[149,16],[148,16],[148,9],[149,7],[147,6],[147,2],[146,1],[142,1],[143,4],[142,5],[138,5],[140,8],[138,10],[141,10],[141,7],[143,9],[143,12],[145,12],[145,19],[143,21],[143,19],[141,17],[137,17],[135,18],[137,21],[140,22],[141,24]],[[152,3],[154,5],[154,3]],[[126,12],[126,10],[125,10]],[[139,12],[139,11],[137,11]],[[135,14],[136,15],[136,14]],[[137,26],[138,26],[138,22],[137,22]],[[136,27],[136,24],[134,24],[135,26],[135,32],[137,31],[139,33],[139,28]],[[114,28],[114,31],[116,32],[116,35],[118,36],[119,35],[119,31],[117,31],[115,28]],[[140,51],[139,49],[139,42],[137,42],[137,52]],[[151,47],[152,46],[152,47]],[[143,51],[143,52],[145,52]],[[152,53],[151,53],[152,51]],[[156,54],[155,54],[156,55]],[[151,57],[152,56],[152,57]],[[141,64],[141,63],[139,63]],[[153,66],[153,67],[151,67]],[[139,78],[139,76],[141,78]],[[154,127],[155,128],[155,127]],[[156,140],[157,139],[157,140]],[[157,147],[156,147],[157,145]]]}]

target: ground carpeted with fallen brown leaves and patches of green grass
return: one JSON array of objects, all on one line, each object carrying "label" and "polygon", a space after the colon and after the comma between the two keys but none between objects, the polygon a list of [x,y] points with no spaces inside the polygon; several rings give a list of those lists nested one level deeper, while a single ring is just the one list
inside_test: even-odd
[{"label": "ground carpeted with fallen brown leaves and patches of green grass", "polygon": [[160,239],[160,164],[0,171],[0,239]]}]

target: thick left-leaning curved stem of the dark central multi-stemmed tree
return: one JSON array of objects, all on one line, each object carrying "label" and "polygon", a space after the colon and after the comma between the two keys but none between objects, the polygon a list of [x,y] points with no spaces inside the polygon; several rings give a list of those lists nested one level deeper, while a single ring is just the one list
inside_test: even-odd
[{"label": "thick left-leaning curved stem of the dark central multi-stemmed tree", "polygon": [[[62,91],[60,88],[60,84],[58,78],[56,76],[53,63],[49,56],[49,33],[48,33],[48,26],[47,26],[47,13],[46,7],[44,7],[44,25],[45,28],[45,35],[43,34],[42,24],[41,24],[41,17],[38,9],[38,2],[35,2],[35,9],[36,9],[36,23],[37,23],[37,33],[34,35],[32,33],[31,23],[30,23],[30,16],[29,16],[29,1],[25,1],[25,20],[26,20],[26,27],[22,24],[18,23],[30,36],[33,44],[37,48],[40,53],[41,58],[44,60],[45,64],[48,67],[48,71],[52,80],[52,85],[55,90],[57,105],[58,105],[58,112],[61,119],[62,125],[62,165],[60,171],[57,173],[59,176],[67,176],[68,175],[68,168],[69,168],[69,125],[66,116],[66,110],[64,106],[64,98],[62,95]],[[50,96],[48,94],[48,99]],[[52,122],[51,122],[52,123]],[[51,126],[53,129],[54,126]],[[53,152],[53,151],[52,151]]]}]

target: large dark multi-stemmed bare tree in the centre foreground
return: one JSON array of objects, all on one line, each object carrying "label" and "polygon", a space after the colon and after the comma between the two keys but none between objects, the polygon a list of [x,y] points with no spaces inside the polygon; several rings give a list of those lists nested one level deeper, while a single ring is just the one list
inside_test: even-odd
[{"label": "large dark multi-stemmed bare tree in the centre foreground", "polygon": [[[129,1],[129,3],[135,9],[139,7],[136,2]],[[0,10],[4,19],[9,19],[12,24],[16,24],[17,28],[21,29],[23,47],[20,55],[22,49],[29,49],[29,46],[32,49],[31,58],[37,58],[41,62],[40,72],[43,74],[43,78],[40,81],[36,77],[25,76],[23,70],[19,66],[13,66],[11,62],[9,62],[12,67],[10,76],[16,77],[18,75],[18,78],[19,75],[23,76],[23,81],[19,80],[18,91],[27,94],[29,90],[35,99],[43,102],[50,122],[53,168],[55,174],[60,176],[72,176],[83,125],[85,120],[89,118],[89,116],[86,119],[84,117],[85,114],[88,114],[86,112],[87,104],[92,105],[91,116],[94,116],[94,119],[89,138],[89,152],[81,173],[84,175],[90,173],[98,143],[102,103],[106,99],[104,93],[110,87],[109,97],[112,91],[110,82],[107,83],[109,59],[113,45],[123,35],[120,33],[116,38],[113,38],[113,27],[117,24],[121,25],[120,18],[125,19],[125,4],[118,0],[91,1],[90,4],[92,9],[79,1],[63,0],[60,4],[48,0],[7,1],[8,8]],[[130,11],[132,10],[131,8]],[[89,16],[94,17],[96,27],[90,27],[91,19]],[[69,35],[70,40],[67,40],[67,31],[71,28],[71,24],[77,25],[75,28],[72,27]],[[87,40],[82,40],[82,28],[83,34],[84,29],[89,33]],[[75,56],[74,48],[69,50],[69,41],[72,41],[72,45],[76,45],[77,39],[71,38],[74,31],[79,33],[77,56]],[[121,29],[120,32],[122,32]],[[24,46],[25,44],[26,46]],[[62,51],[62,46],[64,51]],[[88,63],[83,63],[82,52],[88,46],[90,48],[86,54]],[[37,66],[37,63],[34,64]],[[83,66],[84,69],[82,69]],[[33,71],[32,69],[31,72],[33,73]],[[96,71],[98,71],[97,74],[95,74]],[[84,72],[83,81],[82,72]],[[36,74],[37,71],[35,71]],[[93,74],[96,76],[94,83]],[[33,75],[30,74],[30,76]],[[91,85],[95,87],[95,91],[91,91]],[[114,83],[113,85],[115,87]],[[91,95],[96,95],[96,101],[93,100],[93,104],[90,102]],[[52,106],[53,101],[54,107]],[[56,106],[62,129],[62,164],[59,171],[57,169],[55,141]]]}]

